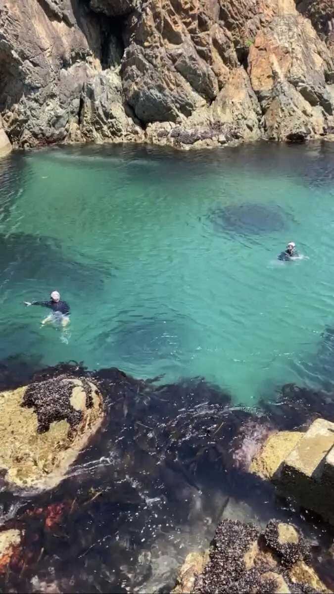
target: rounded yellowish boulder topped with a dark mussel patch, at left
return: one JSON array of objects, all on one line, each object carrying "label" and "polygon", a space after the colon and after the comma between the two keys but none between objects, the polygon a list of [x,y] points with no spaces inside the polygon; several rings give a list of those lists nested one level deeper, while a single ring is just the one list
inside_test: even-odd
[{"label": "rounded yellowish boulder topped with a dark mussel patch, at left", "polygon": [[68,375],[1,392],[0,405],[0,467],[25,488],[58,484],[103,419],[96,386]]}]

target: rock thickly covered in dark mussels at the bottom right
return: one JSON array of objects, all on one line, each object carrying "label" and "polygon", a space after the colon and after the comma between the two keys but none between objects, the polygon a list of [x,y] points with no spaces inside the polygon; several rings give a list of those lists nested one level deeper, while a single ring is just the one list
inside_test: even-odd
[{"label": "rock thickly covered in dark mussels at the bottom right", "polygon": [[223,520],[204,569],[205,555],[188,555],[173,592],[329,592],[310,559],[307,542],[290,524],[271,521],[260,532],[253,524]]}]

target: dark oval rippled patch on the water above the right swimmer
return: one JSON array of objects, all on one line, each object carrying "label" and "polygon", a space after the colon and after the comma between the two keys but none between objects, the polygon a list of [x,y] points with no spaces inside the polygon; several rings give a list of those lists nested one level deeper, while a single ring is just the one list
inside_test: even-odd
[{"label": "dark oval rippled patch on the water above the right swimmer", "polygon": [[238,235],[266,235],[286,229],[285,214],[275,204],[245,203],[216,208],[210,214],[210,221],[216,232]]}]

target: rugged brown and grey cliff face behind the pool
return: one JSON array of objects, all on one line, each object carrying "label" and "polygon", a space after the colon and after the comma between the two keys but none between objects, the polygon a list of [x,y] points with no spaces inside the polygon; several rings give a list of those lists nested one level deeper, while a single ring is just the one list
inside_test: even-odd
[{"label": "rugged brown and grey cliff face behind the pool", "polygon": [[13,146],[334,131],[332,0],[0,0]]}]

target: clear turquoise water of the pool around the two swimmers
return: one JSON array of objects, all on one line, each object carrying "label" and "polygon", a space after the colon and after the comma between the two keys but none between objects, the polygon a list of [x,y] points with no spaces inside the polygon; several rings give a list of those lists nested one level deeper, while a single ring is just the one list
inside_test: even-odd
[{"label": "clear turquoise water of the pool around the two swimmers", "polygon": [[[0,358],[201,375],[246,405],[289,381],[319,385],[334,326],[333,149],[85,147],[2,161]],[[307,258],[280,264],[288,241]],[[72,309],[65,336],[22,305],[54,289]]]}]

